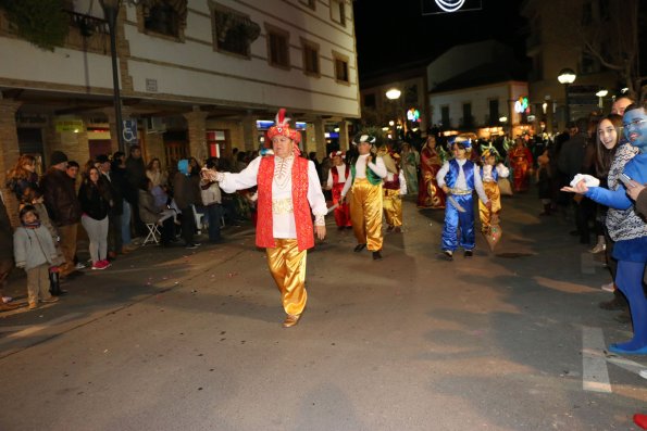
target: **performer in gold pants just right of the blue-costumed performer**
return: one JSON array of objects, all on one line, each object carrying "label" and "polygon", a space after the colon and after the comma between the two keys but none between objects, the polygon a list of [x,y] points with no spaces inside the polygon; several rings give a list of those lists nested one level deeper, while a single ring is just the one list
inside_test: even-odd
[{"label": "performer in gold pants just right of the blue-costumed performer", "polygon": [[508,178],[510,169],[508,169],[502,163],[498,163],[499,153],[498,151],[489,145],[486,147],[481,159],[483,160],[483,166],[481,167],[481,179],[483,182],[483,190],[487,200],[492,202],[490,207],[487,207],[483,202],[478,201],[478,216],[481,217],[481,231],[487,233],[489,231],[489,225],[493,216],[497,216],[501,212],[501,192],[499,190],[499,178]]}]

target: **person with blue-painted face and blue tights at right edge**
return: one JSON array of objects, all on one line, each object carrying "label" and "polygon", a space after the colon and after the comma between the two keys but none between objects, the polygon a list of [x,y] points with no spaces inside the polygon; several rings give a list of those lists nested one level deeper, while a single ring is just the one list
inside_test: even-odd
[{"label": "person with blue-painted face and blue tights at right edge", "polygon": [[[622,118],[624,136],[629,143],[638,149],[624,165],[620,185],[615,190],[587,186],[582,180],[562,191],[584,194],[593,201],[611,208],[627,210],[634,202],[626,195],[627,189],[647,182],[647,110],[645,106],[630,105]],[[631,193],[630,193],[631,194]],[[617,239],[612,256],[618,261],[615,286],[626,296],[632,316],[634,338],[625,343],[613,343],[609,352],[626,355],[647,355],[647,299],[643,291],[643,274],[647,263],[647,226],[643,219],[637,223],[625,220],[627,239]]]}]

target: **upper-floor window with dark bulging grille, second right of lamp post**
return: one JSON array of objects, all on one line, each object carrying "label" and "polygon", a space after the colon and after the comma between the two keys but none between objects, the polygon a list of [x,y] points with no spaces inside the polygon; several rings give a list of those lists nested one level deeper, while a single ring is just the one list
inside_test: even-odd
[{"label": "upper-floor window with dark bulging grille, second right of lamp post", "polygon": [[261,27],[248,16],[221,5],[212,9],[212,16],[215,49],[249,58],[249,46],[261,34]]}]

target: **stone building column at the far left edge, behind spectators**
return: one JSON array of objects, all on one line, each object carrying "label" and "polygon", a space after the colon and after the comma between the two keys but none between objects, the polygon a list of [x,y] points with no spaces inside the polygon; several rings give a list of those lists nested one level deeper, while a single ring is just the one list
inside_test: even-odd
[{"label": "stone building column at the far left edge, behind spectators", "polygon": [[[21,102],[13,100],[2,100],[0,93],[0,172],[7,173],[11,169],[20,156],[18,134],[15,124],[15,113],[21,106]],[[4,177],[3,177],[4,178]],[[13,192],[5,188],[4,181],[0,186],[4,204],[12,226],[18,226],[18,204]]]}]

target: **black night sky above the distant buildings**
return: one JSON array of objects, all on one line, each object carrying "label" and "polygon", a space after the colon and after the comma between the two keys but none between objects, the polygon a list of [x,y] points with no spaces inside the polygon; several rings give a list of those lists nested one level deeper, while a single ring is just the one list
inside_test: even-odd
[{"label": "black night sky above the distant buildings", "polygon": [[[433,0],[430,1],[433,4]],[[360,76],[433,59],[455,45],[494,38],[525,51],[520,0],[482,0],[481,11],[422,15],[421,0],[356,0],[354,25]],[[565,0],[564,0],[565,1]]]}]

